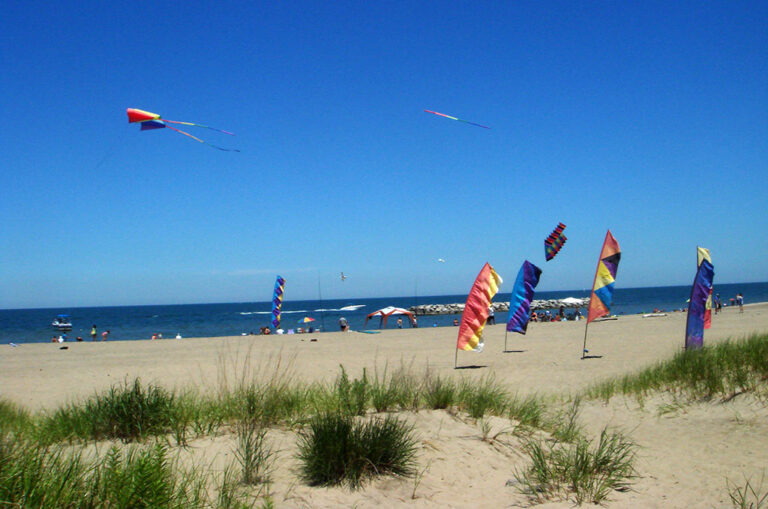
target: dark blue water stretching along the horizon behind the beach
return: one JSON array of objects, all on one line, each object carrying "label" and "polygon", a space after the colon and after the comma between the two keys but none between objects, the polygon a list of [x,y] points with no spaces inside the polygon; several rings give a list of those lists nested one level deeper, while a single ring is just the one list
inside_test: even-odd
[{"label": "dark blue water stretching along the horizon behind the beach", "polygon": [[[654,308],[670,311],[685,308],[690,296],[690,286],[665,286],[651,288],[617,288],[612,312],[633,314],[652,311]],[[742,283],[716,285],[715,292],[727,302],[741,292],[745,303],[768,302],[768,283]],[[588,291],[536,292],[536,299],[560,299],[564,297],[589,297]],[[338,320],[344,316],[353,330],[363,329],[365,316],[386,306],[408,308],[414,304],[463,303],[466,295],[441,295],[419,297],[392,297],[382,299],[317,300],[283,302],[282,327],[303,326],[299,320],[305,316],[315,318],[314,325],[322,330],[339,330]],[[509,301],[508,293],[497,294],[494,302]],[[235,336],[269,325],[270,302],[243,302],[235,304],[182,304],[174,306],[116,306],[91,308],[54,308],[0,310],[0,343],[48,342],[55,331],[51,322],[57,314],[68,314],[73,329],[67,333],[69,340],[82,336],[90,340],[90,330],[96,324],[99,337],[109,329],[109,340],[149,339],[161,333],[164,338],[176,334],[183,337]],[[356,310],[341,308],[362,306]],[[451,326],[458,315],[423,316],[420,327]],[[506,313],[497,313],[498,322],[506,320]],[[376,328],[378,319],[368,328]],[[390,320],[389,328],[396,327]]]}]

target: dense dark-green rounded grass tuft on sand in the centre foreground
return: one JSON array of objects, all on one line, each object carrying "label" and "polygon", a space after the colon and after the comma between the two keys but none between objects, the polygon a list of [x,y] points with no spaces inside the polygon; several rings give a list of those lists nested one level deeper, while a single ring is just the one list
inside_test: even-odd
[{"label": "dense dark-green rounded grass tuft on sand in the centre foreground", "polygon": [[378,475],[413,476],[415,453],[412,427],[393,416],[359,420],[326,413],[299,435],[301,476],[311,486],[357,489]]}]

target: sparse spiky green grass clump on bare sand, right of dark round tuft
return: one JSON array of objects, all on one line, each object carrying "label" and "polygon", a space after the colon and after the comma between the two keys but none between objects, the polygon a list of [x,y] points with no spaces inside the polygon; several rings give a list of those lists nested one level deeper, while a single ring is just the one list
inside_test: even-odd
[{"label": "sparse spiky green grass clump on bare sand, right of dark round tuft", "polygon": [[531,465],[515,473],[520,491],[538,502],[573,499],[600,504],[612,491],[629,488],[635,476],[636,446],[624,435],[603,429],[597,444],[529,440]]}]

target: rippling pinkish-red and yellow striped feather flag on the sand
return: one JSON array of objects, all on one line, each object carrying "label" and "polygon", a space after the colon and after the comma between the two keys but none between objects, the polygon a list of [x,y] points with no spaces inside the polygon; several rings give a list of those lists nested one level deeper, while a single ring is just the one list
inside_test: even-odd
[{"label": "rippling pinkish-red and yellow striped feather flag on the sand", "polygon": [[488,319],[488,308],[502,282],[501,276],[496,274],[489,263],[483,265],[483,269],[469,291],[467,303],[461,315],[459,337],[456,342],[457,355],[459,350],[483,351],[483,327]]}]

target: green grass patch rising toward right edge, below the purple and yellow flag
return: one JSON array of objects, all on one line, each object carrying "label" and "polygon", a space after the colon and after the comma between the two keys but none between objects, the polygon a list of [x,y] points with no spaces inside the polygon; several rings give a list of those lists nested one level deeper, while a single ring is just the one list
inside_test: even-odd
[{"label": "green grass patch rising toward right edge, below the purple and yellow flag", "polygon": [[753,334],[696,350],[685,350],[638,373],[588,388],[586,395],[608,401],[616,394],[644,396],[681,392],[691,398],[728,399],[768,380],[768,334]]}]

